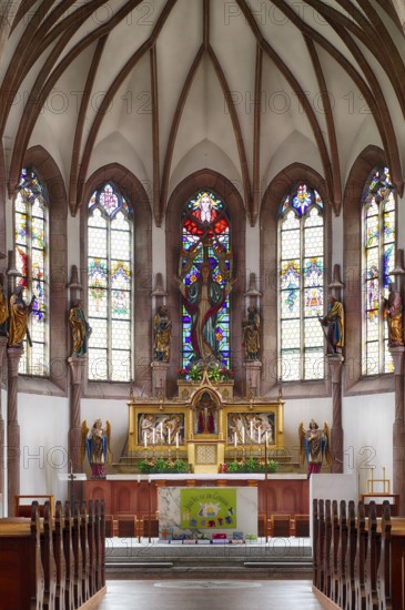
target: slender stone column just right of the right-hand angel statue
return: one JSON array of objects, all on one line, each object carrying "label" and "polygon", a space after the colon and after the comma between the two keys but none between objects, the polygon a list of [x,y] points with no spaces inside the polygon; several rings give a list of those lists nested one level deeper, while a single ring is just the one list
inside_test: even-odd
[{"label": "slender stone column just right of the right-hand angel statue", "polygon": [[331,429],[332,472],[343,472],[342,427],[342,354],[328,354],[327,365],[332,379],[333,423]]}]

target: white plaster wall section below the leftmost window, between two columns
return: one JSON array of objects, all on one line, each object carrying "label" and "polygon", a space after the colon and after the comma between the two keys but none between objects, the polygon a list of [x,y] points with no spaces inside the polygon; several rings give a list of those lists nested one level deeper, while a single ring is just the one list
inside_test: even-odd
[{"label": "white plaster wall section below the leftmost window, between two columns", "polygon": [[68,399],[19,394],[18,418],[20,494],[53,494],[55,500],[64,501],[67,484],[60,482],[58,475],[68,471]]}]

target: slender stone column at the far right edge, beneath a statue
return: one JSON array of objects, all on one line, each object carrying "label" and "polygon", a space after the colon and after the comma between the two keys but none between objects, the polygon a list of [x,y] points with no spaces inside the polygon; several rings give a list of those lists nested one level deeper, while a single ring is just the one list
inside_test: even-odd
[{"label": "slender stone column at the far right edge, beneath a statue", "polygon": [[393,426],[393,494],[399,494],[399,515],[405,515],[404,354],[391,347],[395,375],[395,420]]}]

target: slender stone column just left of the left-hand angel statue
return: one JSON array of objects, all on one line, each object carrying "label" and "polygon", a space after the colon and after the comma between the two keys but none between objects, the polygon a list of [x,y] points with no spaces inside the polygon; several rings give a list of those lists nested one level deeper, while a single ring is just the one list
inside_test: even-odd
[{"label": "slender stone column just left of the left-hand angel statue", "polygon": [[81,446],[81,410],[80,398],[82,379],[85,370],[85,356],[68,358],[70,366],[70,428],[69,428],[69,459],[72,461],[74,472],[82,471],[80,462]]}]

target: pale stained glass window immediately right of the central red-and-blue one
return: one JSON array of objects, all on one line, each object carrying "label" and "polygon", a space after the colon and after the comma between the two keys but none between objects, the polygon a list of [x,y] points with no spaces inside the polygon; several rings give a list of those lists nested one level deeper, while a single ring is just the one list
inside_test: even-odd
[{"label": "pale stained glass window immediately right of the central red-and-blue one", "polygon": [[280,375],[283,380],[324,377],[324,217],[320,194],[298,186],[281,205]]}]

